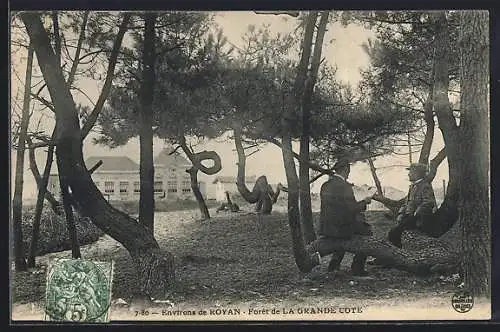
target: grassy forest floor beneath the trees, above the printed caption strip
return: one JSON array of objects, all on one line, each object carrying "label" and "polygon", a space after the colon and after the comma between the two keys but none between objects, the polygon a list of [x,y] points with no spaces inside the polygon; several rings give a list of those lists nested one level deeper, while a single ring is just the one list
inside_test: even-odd
[{"label": "grassy forest floor beneath the trees, above the printed caption strip", "polygon": [[[294,262],[285,207],[270,216],[242,206],[244,212],[216,213],[200,221],[199,211],[157,213],[155,236],[160,246],[176,259],[176,286],[169,296],[174,303],[225,303],[295,300],[312,303],[325,299],[386,301],[397,304],[438,297],[449,301],[457,281],[449,276],[419,278],[396,269],[369,265],[369,277],[349,272],[352,255],[347,254],[341,271],[327,272],[329,257],[315,274],[302,275]],[[246,212],[245,212],[246,211]],[[368,222],[377,236],[392,225],[383,212],[370,211]],[[128,252],[108,236],[82,247],[87,259],[115,261],[113,299],[127,303],[139,298],[138,284]],[[14,273],[13,302],[43,303],[45,270],[49,257],[69,257],[68,251],[38,258],[36,270]]]}]

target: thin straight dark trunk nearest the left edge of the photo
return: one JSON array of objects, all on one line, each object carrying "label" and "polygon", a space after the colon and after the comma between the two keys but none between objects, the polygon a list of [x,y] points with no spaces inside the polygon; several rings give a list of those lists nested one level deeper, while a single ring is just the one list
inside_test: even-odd
[{"label": "thin straight dark trunk nearest the left edge of the photo", "polygon": [[12,223],[14,233],[14,264],[16,271],[26,270],[26,259],[23,242],[23,183],[24,183],[24,151],[29,124],[29,110],[31,101],[31,73],[33,68],[33,44],[28,46],[28,59],[26,61],[26,78],[24,81],[23,110],[21,114],[21,127],[19,129],[19,143],[16,154],[16,177],[14,182],[14,197],[12,199]]}]

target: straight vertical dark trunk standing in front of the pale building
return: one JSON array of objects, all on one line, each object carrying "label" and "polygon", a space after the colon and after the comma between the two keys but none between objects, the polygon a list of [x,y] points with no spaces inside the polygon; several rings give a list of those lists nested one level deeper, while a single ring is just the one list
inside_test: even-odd
[{"label": "straight vertical dark trunk standing in front of the pale building", "polygon": [[153,95],[155,65],[155,13],[146,13],[142,54],[139,116],[140,181],[139,222],[154,234]]}]

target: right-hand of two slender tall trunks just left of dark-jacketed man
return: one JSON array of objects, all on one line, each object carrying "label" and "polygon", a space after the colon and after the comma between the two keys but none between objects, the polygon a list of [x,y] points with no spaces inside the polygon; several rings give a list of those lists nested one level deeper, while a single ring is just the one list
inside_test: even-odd
[{"label": "right-hand of two slender tall trunks just left of dark-jacketed man", "polygon": [[[301,115],[302,115],[302,135],[300,137],[300,167],[299,167],[299,185],[300,185],[300,218],[304,227],[304,240],[310,243],[316,239],[314,232],[314,222],[312,218],[311,205],[311,185],[309,182],[309,145],[311,131],[311,98],[316,85],[319,65],[321,63],[321,51],[323,49],[323,39],[328,23],[329,12],[324,11],[320,15],[319,25],[314,42],[314,51],[311,58],[311,70],[306,79],[304,92],[302,96]],[[315,19],[316,21],[316,19]]]}]

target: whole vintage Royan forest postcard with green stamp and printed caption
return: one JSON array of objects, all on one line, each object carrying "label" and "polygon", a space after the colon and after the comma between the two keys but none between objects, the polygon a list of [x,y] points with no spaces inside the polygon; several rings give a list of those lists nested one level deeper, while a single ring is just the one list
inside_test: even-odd
[{"label": "whole vintage Royan forest postcard with green stamp and printed caption", "polygon": [[12,323],[491,319],[487,11],[10,23]]}]

